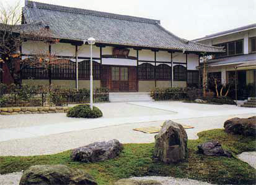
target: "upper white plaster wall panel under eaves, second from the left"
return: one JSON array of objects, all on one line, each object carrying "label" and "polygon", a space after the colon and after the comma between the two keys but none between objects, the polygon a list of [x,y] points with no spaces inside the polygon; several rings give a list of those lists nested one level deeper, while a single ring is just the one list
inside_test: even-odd
[{"label": "upper white plaster wall panel under eaves, second from the left", "polygon": [[51,45],[51,54],[75,57],[76,46],[68,43],[58,43]]}]

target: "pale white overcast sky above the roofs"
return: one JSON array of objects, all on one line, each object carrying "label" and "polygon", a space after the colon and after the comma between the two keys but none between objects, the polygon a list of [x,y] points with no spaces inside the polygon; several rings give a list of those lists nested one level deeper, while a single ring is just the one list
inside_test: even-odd
[{"label": "pale white overcast sky above the roofs", "polygon": [[[12,5],[19,0],[0,0]],[[185,39],[256,23],[256,0],[34,0],[115,14],[161,20]],[[20,0],[24,6],[24,0]]]}]

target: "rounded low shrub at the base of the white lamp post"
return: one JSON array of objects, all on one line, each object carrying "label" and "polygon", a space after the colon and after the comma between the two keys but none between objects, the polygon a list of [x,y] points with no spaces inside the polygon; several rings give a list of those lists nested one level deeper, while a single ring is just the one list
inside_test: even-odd
[{"label": "rounded low shrub at the base of the white lamp post", "polygon": [[102,117],[102,112],[99,108],[93,107],[90,109],[90,105],[76,105],[69,109],[67,117],[71,118],[99,118]]}]

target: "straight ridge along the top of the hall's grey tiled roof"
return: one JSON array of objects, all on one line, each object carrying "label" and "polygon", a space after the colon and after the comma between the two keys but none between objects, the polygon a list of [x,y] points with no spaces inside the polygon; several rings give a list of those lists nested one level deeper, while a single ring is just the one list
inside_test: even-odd
[{"label": "straight ridge along the top of the hall's grey tiled roof", "polygon": [[46,4],[46,3],[35,2],[35,1],[28,1],[27,7],[34,7],[34,4],[36,5],[35,8],[38,8],[38,9],[58,10],[58,11],[70,12],[70,13],[74,13],[74,14],[94,15],[94,16],[99,16],[99,17],[131,20],[131,21],[135,21],[135,22],[144,22],[144,23],[151,23],[151,24],[154,24],[156,22],[160,23],[160,20],[155,20],[155,19],[135,17],[135,16],[130,16],[130,15],[113,14],[113,13],[100,12],[100,11],[89,10],[89,9],[79,9],[76,7],[59,6],[59,5],[55,5],[55,4]]}]

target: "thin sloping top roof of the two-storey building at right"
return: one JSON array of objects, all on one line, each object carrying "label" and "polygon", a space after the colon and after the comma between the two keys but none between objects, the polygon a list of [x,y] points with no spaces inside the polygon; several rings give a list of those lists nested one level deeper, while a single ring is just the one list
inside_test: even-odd
[{"label": "thin sloping top roof of the two-storey building at right", "polygon": [[214,33],[214,34],[211,34],[211,35],[206,35],[202,38],[193,39],[192,41],[194,41],[194,42],[203,41],[205,39],[215,38],[215,37],[223,36],[223,35],[229,35],[229,34],[232,34],[232,33],[236,33],[238,31],[250,30],[250,29],[254,29],[254,28],[256,28],[256,23],[251,24],[251,25],[246,25],[244,27],[234,28],[232,30],[226,30],[226,31],[221,31],[221,32]]}]

